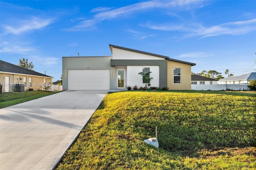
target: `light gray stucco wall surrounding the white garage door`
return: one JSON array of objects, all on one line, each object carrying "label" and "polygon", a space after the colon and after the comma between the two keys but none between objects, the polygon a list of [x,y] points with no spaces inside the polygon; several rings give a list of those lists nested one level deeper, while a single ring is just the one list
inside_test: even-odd
[{"label": "light gray stucco wall surrounding the white garage door", "polygon": [[109,69],[110,89],[115,89],[115,79],[111,78],[111,70],[115,70],[115,67],[110,66],[110,59],[112,56],[62,57],[62,87],[64,90],[68,90],[68,70],[70,69]]}]

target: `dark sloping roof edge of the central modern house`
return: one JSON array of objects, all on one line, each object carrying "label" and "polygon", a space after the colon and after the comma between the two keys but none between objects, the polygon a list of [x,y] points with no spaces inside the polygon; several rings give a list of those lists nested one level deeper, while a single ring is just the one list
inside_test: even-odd
[{"label": "dark sloping roof edge of the central modern house", "polygon": [[170,58],[170,57],[168,57],[168,56],[158,55],[158,54],[154,54],[154,53],[148,53],[148,52],[140,51],[140,50],[137,50],[137,49],[131,49],[131,48],[126,48],[126,47],[120,47],[120,46],[112,45],[112,44],[109,44],[109,47],[110,47],[111,53],[112,53],[112,47],[114,47],[114,48],[124,49],[124,50],[128,50],[128,51],[133,51],[133,52],[136,52],[136,53],[142,53],[142,54],[147,54],[147,55],[153,55],[153,56],[156,56],[156,57],[161,57],[161,58],[164,58],[164,59],[168,59],[168,60],[170,60],[170,61],[176,61],[176,62],[180,62],[180,63],[190,64],[191,66],[196,65],[195,63],[190,63],[190,62],[187,62],[187,61],[181,61],[181,60],[178,60],[178,59],[172,59],[172,58]]}]

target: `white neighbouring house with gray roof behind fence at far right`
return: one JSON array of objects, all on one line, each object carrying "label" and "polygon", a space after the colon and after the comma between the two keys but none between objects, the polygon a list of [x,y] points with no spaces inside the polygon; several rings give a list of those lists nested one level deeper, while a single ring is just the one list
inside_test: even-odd
[{"label": "white neighbouring house with gray roof behind fence at far right", "polygon": [[249,84],[251,80],[256,80],[256,72],[219,79],[218,84]]}]

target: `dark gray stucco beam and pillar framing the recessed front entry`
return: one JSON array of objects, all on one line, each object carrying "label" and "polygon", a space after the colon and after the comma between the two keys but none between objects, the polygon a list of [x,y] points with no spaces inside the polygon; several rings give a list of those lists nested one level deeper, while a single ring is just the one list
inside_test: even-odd
[{"label": "dark gray stucco beam and pillar framing the recessed front entry", "polygon": [[167,60],[140,60],[140,59],[111,59],[111,66],[138,66],[158,65],[159,66],[159,87],[167,87]]}]

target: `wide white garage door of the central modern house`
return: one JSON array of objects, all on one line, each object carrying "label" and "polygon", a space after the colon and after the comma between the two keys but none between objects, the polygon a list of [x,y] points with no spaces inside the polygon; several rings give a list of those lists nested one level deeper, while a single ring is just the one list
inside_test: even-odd
[{"label": "wide white garage door of the central modern house", "polygon": [[109,90],[109,70],[68,70],[69,90]]}]

